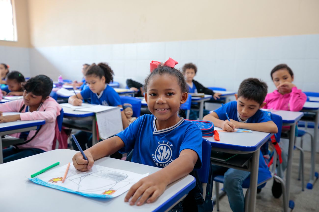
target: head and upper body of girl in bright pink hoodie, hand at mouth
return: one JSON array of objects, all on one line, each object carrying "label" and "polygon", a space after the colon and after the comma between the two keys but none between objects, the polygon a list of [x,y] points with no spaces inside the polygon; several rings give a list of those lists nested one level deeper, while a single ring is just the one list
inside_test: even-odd
[{"label": "head and upper body of girl in bright pink hoodie, hand at mouth", "polygon": [[294,85],[293,71],[286,64],[272,69],[271,79],[278,90],[268,93],[263,108],[274,110],[300,111],[307,100],[306,94]]}]

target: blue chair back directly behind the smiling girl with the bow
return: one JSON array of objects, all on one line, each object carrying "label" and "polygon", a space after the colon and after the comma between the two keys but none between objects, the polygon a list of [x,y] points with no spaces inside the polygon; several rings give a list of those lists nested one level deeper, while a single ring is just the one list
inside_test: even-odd
[{"label": "blue chair back directly behind the smiling girl with the bow", "polygon": [[208,183],[209,169],[211,168],[211,142],[203,138],[202,143],[202,168],[198,169],[199,179],[202,183]]}]

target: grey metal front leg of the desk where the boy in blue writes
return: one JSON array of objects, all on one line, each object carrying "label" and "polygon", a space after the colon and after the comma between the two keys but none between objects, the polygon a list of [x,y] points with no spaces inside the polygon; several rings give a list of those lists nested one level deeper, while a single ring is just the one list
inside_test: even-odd
[{"label": "grey metal front leg of the desk where the boy in blue writes", "polygon": [[249,202],[248,202],[249,212],[255,211],[255,206],[256,206],[259,154],[260,154],[260,148],[258,148],[253,153],[253,157],[251,161],[250,188],[249,188],[250,192],[249,192]]}]

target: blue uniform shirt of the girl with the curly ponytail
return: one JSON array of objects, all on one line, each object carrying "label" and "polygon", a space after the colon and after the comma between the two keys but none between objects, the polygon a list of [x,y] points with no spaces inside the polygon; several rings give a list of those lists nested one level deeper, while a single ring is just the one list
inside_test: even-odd
[{"label": "blue uniform shirt of the girl with the curly ponytail", "polygon": [[118,106],[122,105],[120,96],[118,93],[109,85],[105,85],[105,89],[97,95],[93,93],[90,88],[86,88],[81,91],[83,99],[87,100],[91,98],[91,104],[105,105],[105,106]]}]

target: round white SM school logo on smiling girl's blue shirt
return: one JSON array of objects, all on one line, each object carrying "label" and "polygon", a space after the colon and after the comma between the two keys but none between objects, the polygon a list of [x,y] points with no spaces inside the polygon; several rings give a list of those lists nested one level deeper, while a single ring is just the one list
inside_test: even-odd
[{"label": "round white SM school logo on smiling girl's blue shirt", "polygon": [[159,167],[166,167],[168,164],[173,162],[172,160],[172,147],[173,144],[169,141],[159,142],[156,148],[155,154],[152,154],[152,160]]}]

